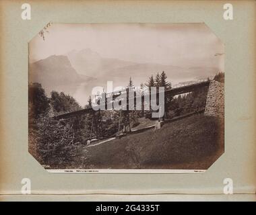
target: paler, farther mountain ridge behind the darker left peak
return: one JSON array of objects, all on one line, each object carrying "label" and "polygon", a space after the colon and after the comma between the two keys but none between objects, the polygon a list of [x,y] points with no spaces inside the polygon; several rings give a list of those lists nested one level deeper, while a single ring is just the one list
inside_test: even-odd
[{"label": "paler, farther mountain ridge behind the darker left peak", "polygon": [[156,63],[129,62],[117,58],[103,58],[89,48],[79,51],[73,50],[67,53],[67,56],[77,73],[103,79],[106,77],[125,78],[126,82],[129,77],[135,82],[138,80],[138,82],[145,82],[145,78],[148,79],[150,75],[156,75],[157,72],[161,73],[162,71],[165,71],[170,81],[203,79],[218,73],[218,69],[214,67],[182,68]]}]

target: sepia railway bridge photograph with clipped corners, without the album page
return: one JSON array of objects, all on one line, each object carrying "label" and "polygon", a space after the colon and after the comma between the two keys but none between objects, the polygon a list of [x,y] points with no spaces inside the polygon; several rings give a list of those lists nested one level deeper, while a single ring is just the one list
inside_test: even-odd
[{"label": "sepia railway bridge photograph with clipped corners, without the album page", "polygon": [[47,171],[202,172],[224,153],[206,24],[49,23],[28,55],[28,151]]}]

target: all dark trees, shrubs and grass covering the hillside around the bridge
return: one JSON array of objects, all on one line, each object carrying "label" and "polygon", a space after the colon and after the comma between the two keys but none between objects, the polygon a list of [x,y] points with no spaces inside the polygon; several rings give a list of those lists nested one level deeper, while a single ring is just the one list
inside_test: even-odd
[{"label": "all dark trees, shrubs and grass covering the hillside around the bridge", "polygon": [[[216,81],[224,80],[219,73]],[[171,89],[166,73],[149,78],[141,89]],[[133,87],[130,77],[129,87]],[[186,116],[205,107],[207,87],[164,101],[162,120]],[[82,110],[70,95],[51,91],[46,95],[40,83],[28,85],[28,144],[37,161],[51,169],[207,169],[224,151],[224,127],[216,118],[203,115],[166,123],[157,131],[127,134],[97,146],[86,146],[88,140],[98,143],[126,128],[143,129],[155,124],[152,110],[129,112],[101,111],[57,120],[53,116]],[[92,106],[92,97],[88,105]],[[120,118],[121,116],[121,118]],[[129,116],[129,117],[128,117]],[[128,120],[129,119],[129,120]],[[131,122],[130,125],[127,122]]]}]

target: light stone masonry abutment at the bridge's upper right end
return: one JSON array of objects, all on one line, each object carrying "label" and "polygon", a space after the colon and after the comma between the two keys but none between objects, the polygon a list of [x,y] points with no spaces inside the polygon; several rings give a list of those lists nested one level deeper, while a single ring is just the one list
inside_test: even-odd
[{"label": "light stone masonry abutment at the bridge's upper right end", "polygon": [[210,81],[204,114],[224,117],[224,83]]}]

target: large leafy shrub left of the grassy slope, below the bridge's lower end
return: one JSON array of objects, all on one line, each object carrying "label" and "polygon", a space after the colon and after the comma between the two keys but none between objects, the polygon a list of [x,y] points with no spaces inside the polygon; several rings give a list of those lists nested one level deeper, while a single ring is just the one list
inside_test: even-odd
[{"label": "large leafy shrub left of the grassy slope, below the bridge's lower end", "polygon": [[39,162],[50,165],[51,169],[70,164],[77,155],[73,126],[48,115],[40,116],[37,126],[36,153]]}]

